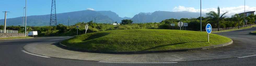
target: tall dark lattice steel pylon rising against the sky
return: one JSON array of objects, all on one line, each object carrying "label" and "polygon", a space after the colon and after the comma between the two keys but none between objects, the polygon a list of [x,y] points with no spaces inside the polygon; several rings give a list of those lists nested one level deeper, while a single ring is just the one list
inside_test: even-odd
[{"label": "tall dark lattice steel pylon rising against the sky", "polygon": [[55,6],[55,0],[52,0],[51,2],[51,18],[50,18],[50,26],[56,26],[57,20],[56,20],[56,6]]}]

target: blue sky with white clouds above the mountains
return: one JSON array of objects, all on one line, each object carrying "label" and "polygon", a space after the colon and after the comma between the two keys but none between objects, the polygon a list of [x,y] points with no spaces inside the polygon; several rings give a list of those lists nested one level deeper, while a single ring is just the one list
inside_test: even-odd
[{"label": "blue sky with white clouds above the mountains", "polygon": [[[25,0],[1,0],[0,11],[10,11],[7,18],[23,16]],[[246,0],[246,11],[256,10],[256,0]],[[243,11],[244,0],[202,0],[203,12],[229,11],[230,15]],[[87,10],[113,11],[120,17],[133,17],[139,12],[190,11],[200,12],[200,0],[56,0],[56,12]],[[27,16],[50,14],[51,0],[27,0]],[[224,12],[223,11],[223,12]],[[0,13],[4,19],[4,13]]]}]

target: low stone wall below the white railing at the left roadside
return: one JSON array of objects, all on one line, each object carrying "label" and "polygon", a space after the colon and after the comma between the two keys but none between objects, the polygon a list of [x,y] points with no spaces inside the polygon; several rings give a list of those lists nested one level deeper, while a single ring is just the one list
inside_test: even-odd
[{"label": "low stone wall below the white railing at the left roadside", "polygon": [[25,33],[0,33],[0,38],[26,37]]}]

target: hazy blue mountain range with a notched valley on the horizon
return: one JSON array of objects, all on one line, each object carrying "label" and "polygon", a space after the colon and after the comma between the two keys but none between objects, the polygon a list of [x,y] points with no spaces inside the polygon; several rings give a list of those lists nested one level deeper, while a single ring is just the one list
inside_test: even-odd
[{"label": "hazy blue mountain range with a notched valley on the horizon", "polygon": [[[202,14],[204,16],[204,14]],[[168,11],[155,11],[153,13],[139,13],[136,14],[133,18],[129,17],[119,17],[118,14],[112,11],[92,11],[92,10],[83,10],[67,13],[58,13],[57,23],[58,24],[68,24],[74,25],[77,22],[89,22],[94,21],[96,23],[114,23],[115,21],[121,22],[123,19],[132,19],[133,23],[146,23],[146,22],[161,22],[165,19],[181,19],[181,18],[198,18],[199,13],[194,12],[168,12]],[[95,21],[96,20],[96,21]],[[27,16],[27,26],[49,26],[50,14],[48,15],[32,15]],[[4,19],[1,19],[0,22],[4,22]],[[18,26],[21,25],[22,17],[9,18],[7,19],[7,26]],[[3,25],[4,23],[0,23]]]}]

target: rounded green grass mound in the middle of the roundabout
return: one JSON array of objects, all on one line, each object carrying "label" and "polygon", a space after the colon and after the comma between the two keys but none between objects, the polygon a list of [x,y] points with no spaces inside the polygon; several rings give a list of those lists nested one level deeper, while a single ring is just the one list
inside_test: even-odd
[{"label": "rounded green grass mound in the middle of the roundabout", "polygon": [[197,48],[230,42],[231,39],[187,30],[132,29],[110,30],[83,34],[64,40],[62,44],[96,51],[154,51]]}]

